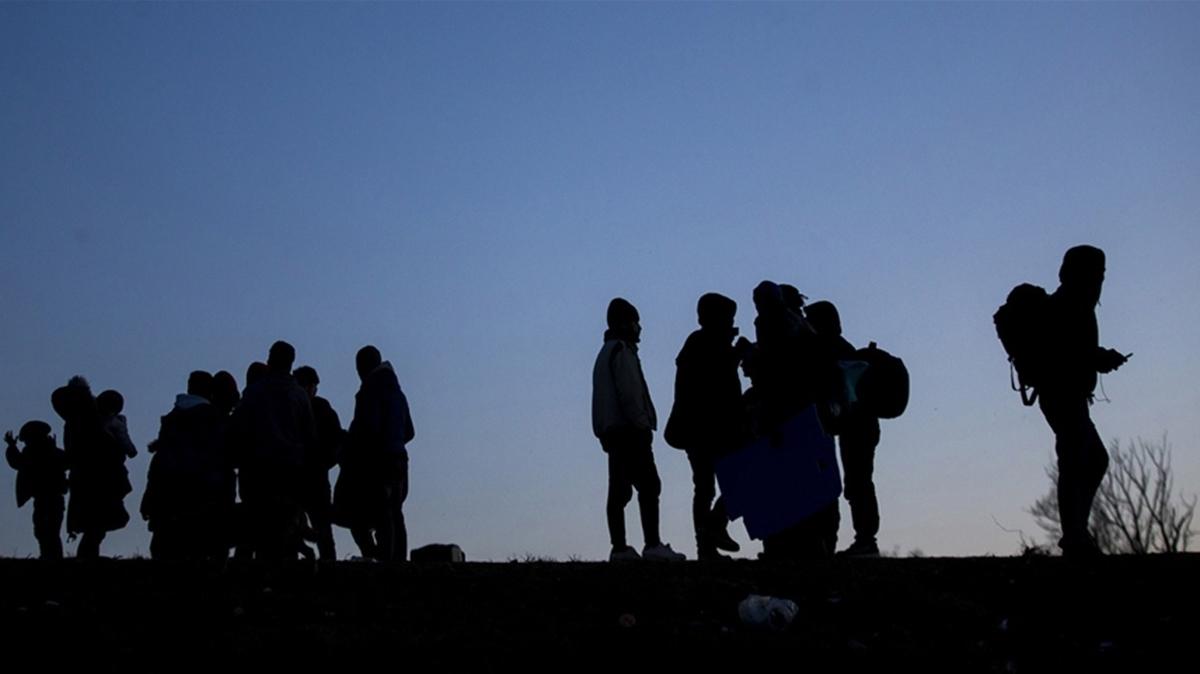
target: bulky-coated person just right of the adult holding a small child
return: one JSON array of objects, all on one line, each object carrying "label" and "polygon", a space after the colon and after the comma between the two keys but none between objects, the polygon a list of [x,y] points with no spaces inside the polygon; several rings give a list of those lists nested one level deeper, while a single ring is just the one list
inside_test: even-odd
[{"label": "bulky-coated person just right of the adult holding a small child", "polygon": [[142,518],[151,532],[151,559],[224,559],[230,517],[228,458],[221,438],[221,413],[211,404],[212,375],[187,378],[187,392],[158,428],[149,450],[150,473],[142,498]]}]

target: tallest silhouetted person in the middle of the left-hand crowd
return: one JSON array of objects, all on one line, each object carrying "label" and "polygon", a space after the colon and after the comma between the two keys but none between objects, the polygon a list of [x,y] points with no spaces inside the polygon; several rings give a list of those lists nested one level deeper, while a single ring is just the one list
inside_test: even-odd
[{"label": "tallest silhouetted person in the middle of the left-hand crowd", "polygon": [[295,349],[271,345],[268,372],[246,387],[229,420],[238,488],[258,559],[295,559],[304,524],[304,462],[317,444],[308,395],[292,378]]}]

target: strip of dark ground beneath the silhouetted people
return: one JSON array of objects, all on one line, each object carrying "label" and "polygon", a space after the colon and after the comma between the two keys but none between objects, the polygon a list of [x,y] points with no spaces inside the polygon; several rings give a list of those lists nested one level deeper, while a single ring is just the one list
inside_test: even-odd
[{"label": "strip of dark ground beneath the silhouetted people", "polygon": [[[1200,555],[388,566],[0,560],[4,662],[96,670],[1145,672],[1200,642]],[[793,600],[781,632],[749,594]],[[656,667],[656,669],[660,669]],[[6,670],[24,672],[31,668]],[[59,667],[43,668],[56,672]]]}]

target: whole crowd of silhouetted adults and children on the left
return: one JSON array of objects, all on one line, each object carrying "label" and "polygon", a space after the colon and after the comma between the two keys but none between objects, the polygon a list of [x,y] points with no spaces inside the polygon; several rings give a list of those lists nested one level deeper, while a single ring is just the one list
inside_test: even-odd
[{"label": "whole crowd of silhouetted adults and children on the left", "polygon": [[[332,525],[350,530],[364,559],[403,560],[408,553],[403,504],[413,421],[391,365],[374,347],[355,357],[361,386],[348,431],[317,396],[312,367],[292,369],[295,349],[271,345],[239,392],[228,372],[194,371],[187,391],[162,417],[140,512],[157,560],[336,559]],[[62,558],[67,531],[80,536],[76,556],[100,556],[108,531],[130,519],[132,492],[125,461],[137,455],[124,399],[92,396],[72,378],[50,397],[64,421],[62,449],[50,426],[30,421],[8,432],[6,458],[17,470],[18,506],[34,501],[34,534],[42,559]],[[18,447],[18,440],[23,447]],[[329,471],[341,467],[336,488]]]}]

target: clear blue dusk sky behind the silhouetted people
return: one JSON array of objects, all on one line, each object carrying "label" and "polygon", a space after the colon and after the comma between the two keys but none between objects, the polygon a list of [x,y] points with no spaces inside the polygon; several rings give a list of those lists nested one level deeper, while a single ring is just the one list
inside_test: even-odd
[{"label": "clear blue dusk sky behind the silhouetted people", "polygon": [[[1200,4],[6,2],[0,426],[61,438],[54,387],[120,390],[143,453],[104,552],[145,554],[144,447],[191,369],[241,383],[288,339],[348,423],[373,343],[414,547],[600,559],[608,300],[665,420],[696,299],[752,335],[770,278],[910,367],[881,547],[1012,554],[1052,439],[991,314],[1073,245],[1108,252],[1102,342],[1134,353],[1102,435],[1168,433],[1200,491],[1198,72]],[[655,452],[692,555],[686,459]],[[5,470],[0,554],[36,554]]]}]

